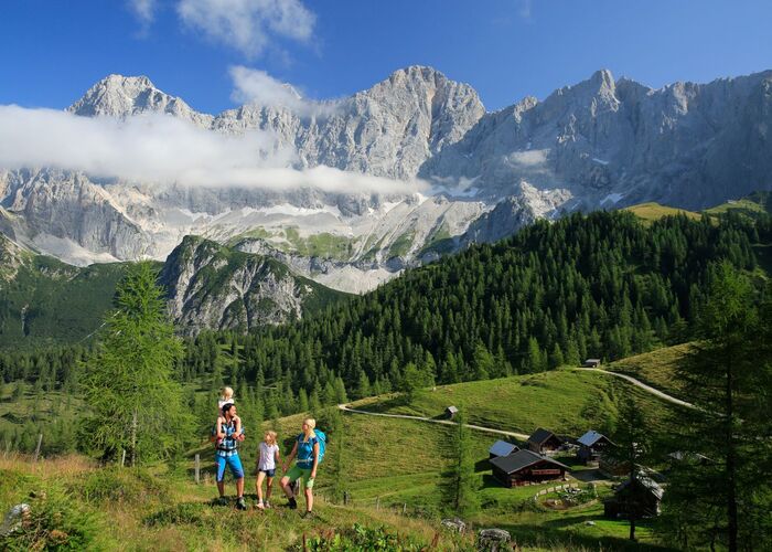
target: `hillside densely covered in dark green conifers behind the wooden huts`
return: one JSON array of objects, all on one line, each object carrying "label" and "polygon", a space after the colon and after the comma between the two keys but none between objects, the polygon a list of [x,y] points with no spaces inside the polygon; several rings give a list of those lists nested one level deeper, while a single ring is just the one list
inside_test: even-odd
[{"label": "hillside densely covered in dark green conifers behind the wooden huts", "polygon": [[[679,215],[646,226],[626,212],[543,221],[299,323],[221,339],[240,351],[234,380],[320,397],[336,376],[366,396],[410,381],[620,359],[690,339],[711,265],[757,270],[769,221]],[[204,346],[192,343],[191,375],[211,364]]]}]

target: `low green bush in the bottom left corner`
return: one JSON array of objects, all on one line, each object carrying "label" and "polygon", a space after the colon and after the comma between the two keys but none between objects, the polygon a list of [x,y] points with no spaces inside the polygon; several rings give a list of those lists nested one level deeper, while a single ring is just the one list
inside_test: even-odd
[{"label": "low green bush in the bottom left corner", "polygon": [[87,550],[98,534],[94,514],[58,487],[36,492],[21,527],[0,537],[1,550]]}]

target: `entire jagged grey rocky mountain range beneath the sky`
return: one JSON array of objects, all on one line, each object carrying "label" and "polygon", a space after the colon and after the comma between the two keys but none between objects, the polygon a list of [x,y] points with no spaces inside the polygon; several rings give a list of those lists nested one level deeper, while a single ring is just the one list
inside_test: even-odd
[{"label": "entire jagged grey rocky mountain range beneath the sky", "polygon": [[486,112],[470,85],[410,66],[334,102],[253,102],[210,115],[144,76],[110,75],[67,110],[165,114],[228,136],[261,130],[294,152],[294,169],[426,185],[420,193],[190,187],[0,168],[0,232],[75,265],[163,261],[186,235],[201,235],[362,293],[540,217],[648,201],[698,210],[769,190],[771,91],[772,71],[660,89],[599,71],[542,102]]}]

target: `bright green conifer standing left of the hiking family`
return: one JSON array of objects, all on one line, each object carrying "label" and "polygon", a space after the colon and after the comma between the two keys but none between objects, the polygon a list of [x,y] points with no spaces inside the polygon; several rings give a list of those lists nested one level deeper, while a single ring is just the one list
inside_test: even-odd
[{"label": "bright green conifer standing left of the hiking family", "polygon": [[191,435],[191,416],[172,378],[182,348],[156,278],[150,262],[127,268],[85,380],[93,415],[83,438],[103,456],[127,450],[132,466],[169,456]]}]

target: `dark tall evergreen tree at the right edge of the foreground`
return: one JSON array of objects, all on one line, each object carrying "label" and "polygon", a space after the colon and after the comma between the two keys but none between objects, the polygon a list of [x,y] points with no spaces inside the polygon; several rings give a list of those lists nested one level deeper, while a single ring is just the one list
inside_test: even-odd
[{"label": "dark tall evergreen tree at the right edge of the foreground", "polygon": [[772,323],[750,282],[728,263],[711,273],[700,310],[704,340],[678,367],[696,408],[673,421],[678,452],[665,493],[665,526],[682,546],[755,550],[772,541]]}]

